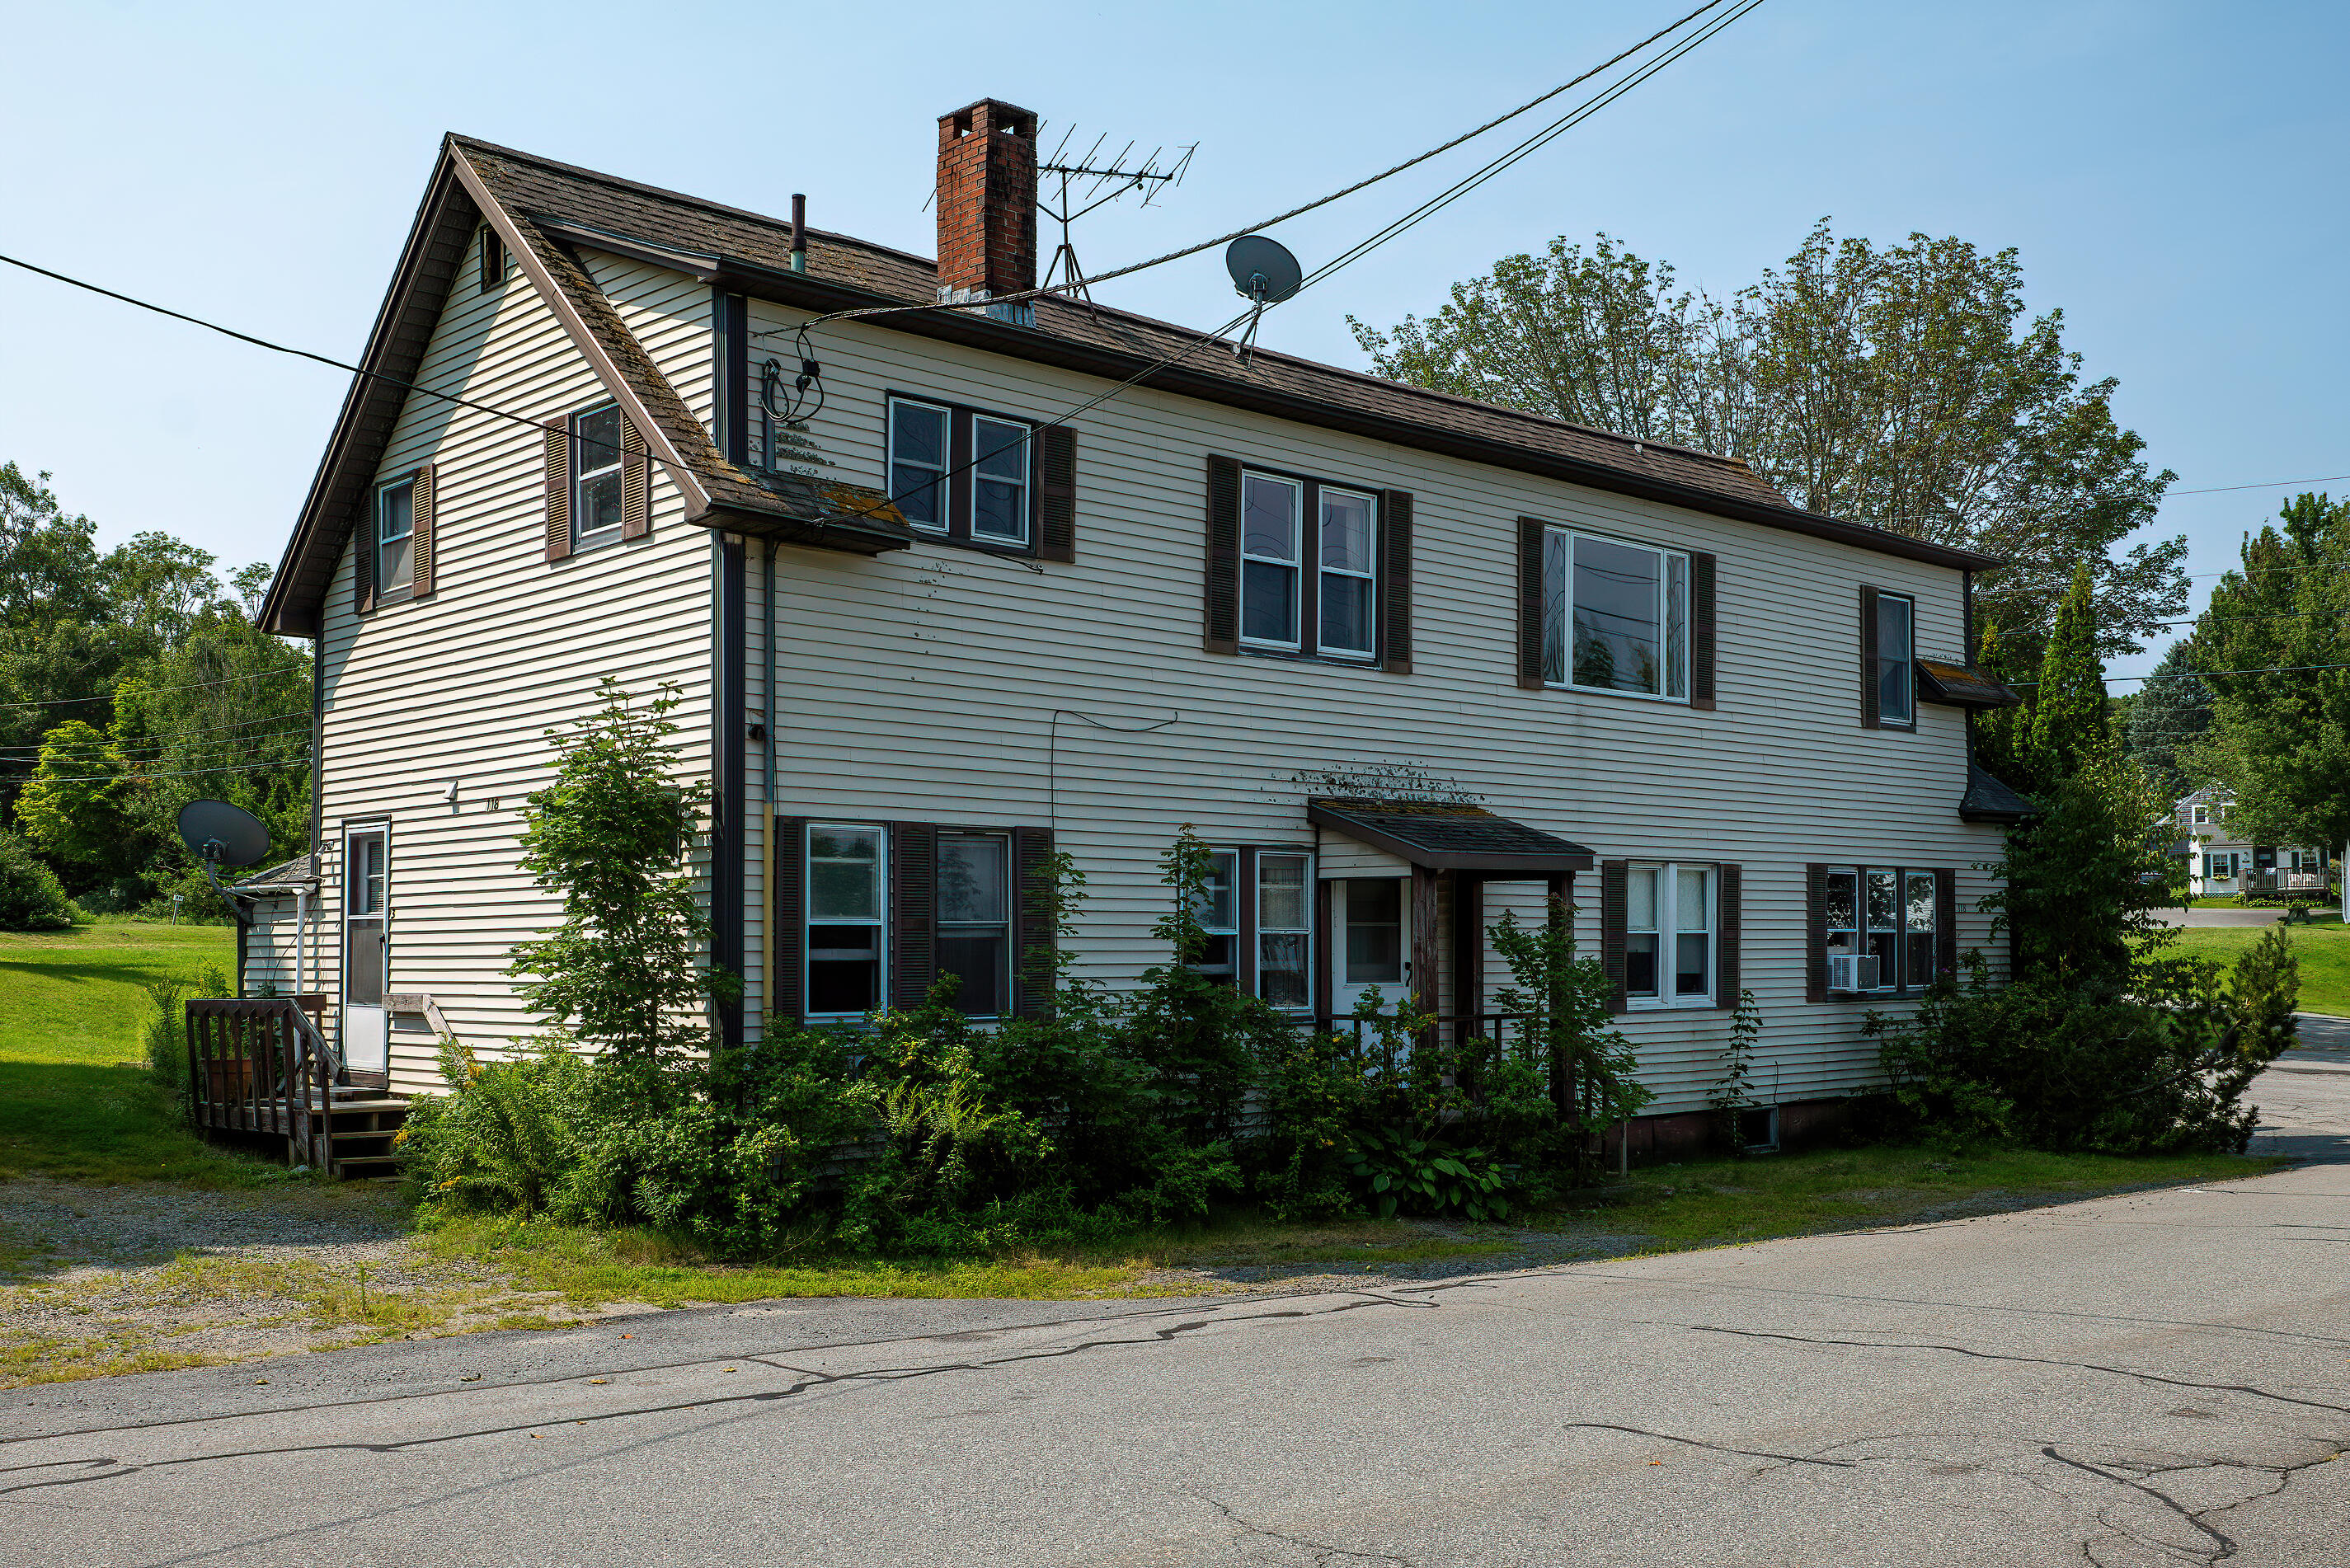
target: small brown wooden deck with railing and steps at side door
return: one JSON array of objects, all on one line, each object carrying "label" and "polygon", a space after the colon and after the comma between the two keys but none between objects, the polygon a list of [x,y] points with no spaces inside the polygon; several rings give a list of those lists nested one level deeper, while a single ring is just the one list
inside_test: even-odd
[{"label": "small brown wooden deck with railing and steps at side door", "polygon": [[324,997],[188,1001],[188,1086],[204,1133],[282,1138],[289,1166],[392,1175],[404,1095],[350,1084],[317,1027]]}]

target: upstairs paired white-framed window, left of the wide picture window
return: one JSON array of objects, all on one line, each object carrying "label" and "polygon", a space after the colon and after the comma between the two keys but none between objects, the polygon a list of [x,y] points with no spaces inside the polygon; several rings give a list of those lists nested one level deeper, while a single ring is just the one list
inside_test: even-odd
[{"label": "upstairs paired white-framed window, left of the wide picture window", "polygon": [[1241,646],[1377,658],[1375,494],[1241,470]]}]

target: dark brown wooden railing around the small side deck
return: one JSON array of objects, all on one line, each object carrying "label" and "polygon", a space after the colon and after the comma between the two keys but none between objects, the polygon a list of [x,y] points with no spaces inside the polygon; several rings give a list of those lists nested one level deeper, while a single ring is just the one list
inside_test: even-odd
[{"label": "dark brown wooden railing around the small side deck", "polygon": [[188,1093],[197,1126],[282,1135],[289,1166],[324,1166],[343,1063],[313,1018],[320,997],[188,1001]]}]

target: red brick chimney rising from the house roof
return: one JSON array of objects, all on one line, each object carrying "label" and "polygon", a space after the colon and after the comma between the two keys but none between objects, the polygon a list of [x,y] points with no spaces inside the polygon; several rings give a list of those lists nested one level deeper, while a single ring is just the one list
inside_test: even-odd
[{"label": "red brick chimney rising from the house roof", "polygon": [[938,296],[1036,287],[1036,115],[996,99],[938,118]]}]

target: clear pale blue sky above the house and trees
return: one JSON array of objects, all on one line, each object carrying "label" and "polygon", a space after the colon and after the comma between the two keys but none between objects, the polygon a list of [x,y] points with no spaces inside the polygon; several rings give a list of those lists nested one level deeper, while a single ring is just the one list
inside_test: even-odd
[{"label": "clear pale blue sky above the house and trees", "polygon": [[[1683,9],[7,0],[0,249],[355,357],[446,129],[764,212],[806,190],[815,226],[928,254],[935,118],[1001,96],[1053,136],[1201,143],[1168,200],[1086,223],[1102,270],[1349,183]],[[1349,313],[1424,310],[1560,233],[1727,292],[1833,216],[2019,247],[2033,308],[2063,308],[2183,489],[2350,473],[2345,45],[2336,5],[1767,0],[1264,339],[1361,364]],[[1480,146],[1278,237],[1311,266]],[[1234,308],[1215,256],[1104,299],[1196,324]],[[0,456],[54,470],[103,538],[275,559],[343,381],[0,268]],[[2277,498],[2176,496],[2157,527],[2216,574]]]}]

